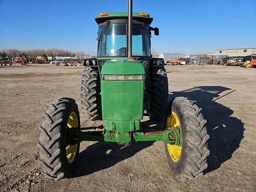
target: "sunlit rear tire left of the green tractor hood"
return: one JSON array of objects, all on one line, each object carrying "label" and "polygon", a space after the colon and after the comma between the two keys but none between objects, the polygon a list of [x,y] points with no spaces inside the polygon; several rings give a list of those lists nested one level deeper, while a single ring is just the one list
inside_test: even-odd
[{"label": "sunlit rear tire left of the green tractor hood", "polygon": [[100,74],[90,66],[84,69],[82,75],[81,104],[86,120],[101,120]]}]

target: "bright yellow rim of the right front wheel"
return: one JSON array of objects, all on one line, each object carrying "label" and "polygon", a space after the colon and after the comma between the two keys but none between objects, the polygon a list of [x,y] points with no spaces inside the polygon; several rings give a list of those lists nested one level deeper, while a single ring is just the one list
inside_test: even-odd
[{"label": "bright yellow rim of the right front wheel", "polygon": [[[172,112],[172,114],[170,116],[168,116],[166,126],[167,127],[180,126],[180,121],[175,112]],[[180,130],[180,134],[181,134],[181,130]],[[174,162],[177,162],[180,159],[181,146],[171,145],[171,144],[167,143],[167,149],[168,149],[169,155],[172,158],[172,160]]]}]

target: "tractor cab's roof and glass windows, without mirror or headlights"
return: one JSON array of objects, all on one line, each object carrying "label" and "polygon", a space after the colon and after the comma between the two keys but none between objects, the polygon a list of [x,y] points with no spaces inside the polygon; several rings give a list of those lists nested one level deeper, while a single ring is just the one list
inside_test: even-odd
[{"label": "tractor cab's roof and glass windows, without mirror or headlights", "polygon": [[[106,15],[108,13],[105,13]],[[95,18],[99,25],[97,57],[127,57],[127,22],[121,13],[110,13],[110,16]],[[111,16],[113,15],[114,18]],[[132,26],[132,56],[150,57],[150,23],[153,18],[135,13]],[[136,19],[137,18],[137,19]]]}]

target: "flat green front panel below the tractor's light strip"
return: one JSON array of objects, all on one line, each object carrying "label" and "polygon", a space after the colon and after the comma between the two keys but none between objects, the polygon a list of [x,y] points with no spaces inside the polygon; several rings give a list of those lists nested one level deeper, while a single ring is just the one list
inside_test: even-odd
[{"label": "flat green front panel below the tractor's light strip", "polygon": [[141,120],[144,80],[101,81],[103,120]]}]

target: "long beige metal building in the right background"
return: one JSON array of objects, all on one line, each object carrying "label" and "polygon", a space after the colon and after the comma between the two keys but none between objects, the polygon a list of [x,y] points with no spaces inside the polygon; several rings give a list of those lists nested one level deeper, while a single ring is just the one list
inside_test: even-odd
[{"label": "long beige metal building in the right background", "polygon": [[250,54],[256,54],[256,48],[242,49],[220,49],[215,51],[216,56],[227,55],[228,57],[243,57]]}]

